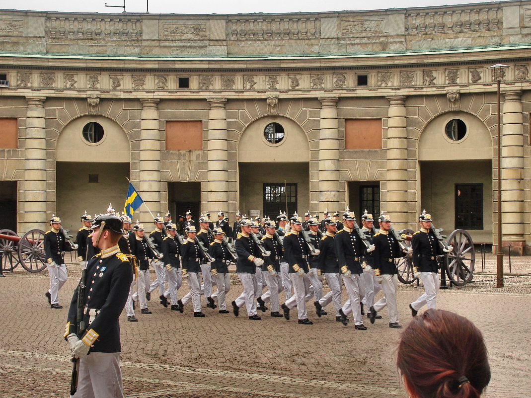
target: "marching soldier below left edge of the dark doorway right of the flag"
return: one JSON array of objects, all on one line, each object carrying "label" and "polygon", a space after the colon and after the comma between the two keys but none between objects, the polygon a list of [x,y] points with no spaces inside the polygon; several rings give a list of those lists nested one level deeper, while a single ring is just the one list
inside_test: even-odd
[{"label": "marching soldier below left edge of the dark doorway right of the flag", "polygon": [[168,289],[160,295],[159,299],[164,307],[168,307],[168,298],[173,311],[179,310],[179,287],[183,284],[181,261],[179,260],[181,241],[177,238],[177,225],[166,225],[166,238],[162,240],[162,262],[164,263]]}]

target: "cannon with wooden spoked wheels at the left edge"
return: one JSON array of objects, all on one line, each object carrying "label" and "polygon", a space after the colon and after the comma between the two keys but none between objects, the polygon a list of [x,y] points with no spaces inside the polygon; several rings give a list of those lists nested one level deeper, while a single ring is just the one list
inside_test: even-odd
[{"label": "cannon with wooden spoked wheels at the left edge", "polygon": [[12,271],[19,264],[31,273],[46,268],[44,231],[31,230],[22,238],[11,230],[0,230],[2,270]]}]

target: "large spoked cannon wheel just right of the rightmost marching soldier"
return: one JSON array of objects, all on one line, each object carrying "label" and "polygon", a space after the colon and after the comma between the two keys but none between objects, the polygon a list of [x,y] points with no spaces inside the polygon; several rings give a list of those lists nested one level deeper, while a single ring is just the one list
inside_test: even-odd
[{"label": "large spoked cannon wheel just right of the rightmost marching soldier", "polygon": [[453,245],[453,251],[448,253],[446,273],[451,283],[464,286],[473,278],[474,242],[465,230],[455,230],[448,236],[448,245]]}]

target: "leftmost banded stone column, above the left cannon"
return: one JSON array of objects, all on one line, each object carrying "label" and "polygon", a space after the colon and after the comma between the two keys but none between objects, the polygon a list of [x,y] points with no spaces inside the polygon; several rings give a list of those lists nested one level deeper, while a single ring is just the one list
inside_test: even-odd
[{"label": "leftmost banded stone column, above the left cannon", "polygon": [[[24,162],[24,222],[20,232],[49,229],[46,214],[46,122],[45,97],[26,97],[25,162]],[[61,216],[59,214],[59,216]]]}]

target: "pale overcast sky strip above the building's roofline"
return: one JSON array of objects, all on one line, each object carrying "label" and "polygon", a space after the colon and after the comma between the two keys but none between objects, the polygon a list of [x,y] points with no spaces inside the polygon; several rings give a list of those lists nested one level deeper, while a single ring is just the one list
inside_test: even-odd
[{"label": "pale overcast sky strip above the building's roofline", "polygon": [[[149,1],[150,13],[164,14],[237,14],[253,12],[310,12],[310,11],[344,11],[344,10],[382,10],[391,8],[425,7],[450,4],[484,3],[479,0],[380,0],[375,2],[360,0],[225,0],[225,1],[168,1],[168,0],[125,0],[126,11],[141,13],[146,11]],[[502,0],[503,1],[503,0]],[[87,3],[76,0],[0,0],[0,9],[40,10],[40,11],[71,11],[121,13],[122,9],[105,7],[123,5],[124,0],[91,0]]]}]

